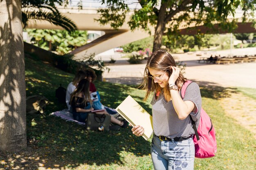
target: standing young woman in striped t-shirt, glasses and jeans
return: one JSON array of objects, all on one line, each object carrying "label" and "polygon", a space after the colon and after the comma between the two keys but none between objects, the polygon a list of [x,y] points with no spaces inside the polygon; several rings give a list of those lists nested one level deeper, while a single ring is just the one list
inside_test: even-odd
[{"label": "standing young woman in striped t-shirt, glasses and jeans", "polygon": [[[191,117],[198,128],[202,99],[198,84],[191,83],[182,99],[180,91],[186,79],[166,51],[158,50],[149,58],[145,68],[146,100],[153,93],[152,116],[154,136],[151,158],[155,170],[193,170],[195,133]],[[137,125],[132,133],[141,136],[144,128]]]}]

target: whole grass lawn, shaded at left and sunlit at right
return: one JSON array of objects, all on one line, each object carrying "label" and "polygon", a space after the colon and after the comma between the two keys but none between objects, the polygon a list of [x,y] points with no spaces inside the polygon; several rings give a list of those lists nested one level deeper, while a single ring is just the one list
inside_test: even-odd
[{"label": "whole grass lawn, shaded at left and sunlit at right", "polygon": [[[27,96],[44,95],[50,104],[45,114],[27,115],[28,147],[18,153],[0,152],[0,170],[153,170],[150,141],[132,135],[130,127],[120,131],[87,131],[83,126],[49,115],[65,108],[56,100],[55,90],[59,84],[67,87],[74,75],[29,58],[25,62]],[[106,82],[95,85],[106,106],[116,108],[131,95],[148,112],[151,110],[150,99],[142,102],[143,90]],[[201,93],[204,110],[217,132],[218,152],[213,158],[195,159],[195,170],[254,170],[256,142],[252,133],[225,115],[218,100],[231,92],[221,87],[202,87]]]}]

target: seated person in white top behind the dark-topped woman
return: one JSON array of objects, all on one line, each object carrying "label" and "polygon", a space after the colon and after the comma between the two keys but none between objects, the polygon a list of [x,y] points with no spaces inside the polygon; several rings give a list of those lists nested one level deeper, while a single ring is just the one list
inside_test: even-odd
[{"label": "seated person in white top behind the dark-topped woman", "polygon": [[78,85],[78,82],[81,79],[86,79],[87,78],[87,74],[84,71],[78,71],[73,79],[72,82],[70,82],[70,84],[68,84],[67,86],[67,92],[66,92],[66,104],[67,104],[67,108],[68,110],[70,110],[70,112],[72,112],[71,110],[71,104],[70,104],[70,97],[71,97],[71,93],[73,93],[73,91],[76,89],[76,86]]}]

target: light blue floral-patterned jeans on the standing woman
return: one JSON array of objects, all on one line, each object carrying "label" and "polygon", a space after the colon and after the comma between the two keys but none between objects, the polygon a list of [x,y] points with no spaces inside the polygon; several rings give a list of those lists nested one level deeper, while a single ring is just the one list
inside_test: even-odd
[{"label": "light blue floral-patterned jeans on the standing woman", "polygon": [[155,170],[193,170],[195,145],[192,137],[184,141],[160,141],[154,135],[151,158]]}]

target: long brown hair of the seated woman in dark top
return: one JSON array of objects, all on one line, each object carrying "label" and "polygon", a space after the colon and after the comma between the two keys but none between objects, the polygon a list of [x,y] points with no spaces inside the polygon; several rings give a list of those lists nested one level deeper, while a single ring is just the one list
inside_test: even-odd
[{"label": "long brown hair of the seated woman in dark top", "polygon": [[70,103],[72,103],[72,100],[75,100],[75,102],[77,102],[77,97],[79,94],[83,95],[83,102],[90,102],[91,106],[92,106],[92,100],[90,97],[90,82],[88,79],[81,79],[80,82],[78,83],[76,89],[73,91],[73,93],[71,94],[71,99],[70,99]]}]

